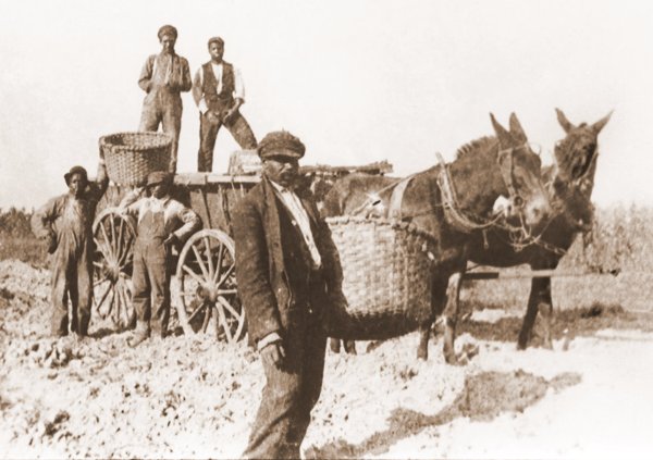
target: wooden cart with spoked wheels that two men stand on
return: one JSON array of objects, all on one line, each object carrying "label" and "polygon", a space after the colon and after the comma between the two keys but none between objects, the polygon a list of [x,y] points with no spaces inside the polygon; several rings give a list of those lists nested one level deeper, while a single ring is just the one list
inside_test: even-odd
[{"label": "wooden cart with spoked wheels that two men stand on", "polygon": [[[330,185],[353,172],[385,174],[387,162],[365,166],[305,166],[303,174],[316,189],[318,200]],[[238,200],[254,187],[256,175],[182,173],[174,177],[174,198],[189,206],[202,221],[202,229],[192,235],[173,252],[170,270],[174,274],[171,289],[170,328],[186,335],[214,334],[234,343],[246,333],[234,273],[234,241],[231,213]],[[132,327],[132,258],[136,222],[118,212],[127,189],[111,186],[94,222],[96,241],[94,308],[101,318],[118,327]]]}]

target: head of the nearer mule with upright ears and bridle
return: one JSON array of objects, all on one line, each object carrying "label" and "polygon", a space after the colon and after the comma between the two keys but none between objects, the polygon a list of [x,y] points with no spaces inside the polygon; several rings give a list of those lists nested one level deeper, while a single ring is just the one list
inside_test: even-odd
[{"label": "head of the nearer mule with upright ears and bridle", "polygon": [[505,216],[512,222],[523,223],[531,228],[545,224],[551,214],[546,189],[540,176],[542,161],[526,137],[517,120],[510,114],[510,130],[505,129],[490,114],[498,139],[496,161],[507,189]]}]

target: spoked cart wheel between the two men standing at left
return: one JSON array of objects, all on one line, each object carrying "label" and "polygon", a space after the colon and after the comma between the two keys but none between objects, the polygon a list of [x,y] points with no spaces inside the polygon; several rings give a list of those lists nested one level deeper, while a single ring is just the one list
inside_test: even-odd
[{"label": "spoked cart wheel between the two men standing at left", "polygon": [[136,315],[132,306],[133,245],[136,236],[131,217],[115,208],[107,208],[93,224],[96,244],[93,297],[101,319],[115,326],[133,327]]}]

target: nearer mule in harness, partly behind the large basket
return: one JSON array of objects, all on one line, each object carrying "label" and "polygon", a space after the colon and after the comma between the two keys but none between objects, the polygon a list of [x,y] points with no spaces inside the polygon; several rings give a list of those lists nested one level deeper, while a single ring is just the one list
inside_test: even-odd
[{"label": "nearer mule in harness, partly behind the large basket", "polygon": [[[457,308],[447,299],[457,300],[471,234],[498,221],[494,210],[497,199],[508,197],[503,217],[522,228],[539,227],[551,212],[540,178],[540,157],[531,150],[519,121],[510,115],[510,126],[517,130],[510,133],[494,115],[490,119],[496,137],[483,137],[458,149],[456,160],[446,166],[448,174],[441,174],[443,166],[436,165],[401,181],[349,175],[336,182],[324,200],[325,216],[393,216],[431,236],[432,318],[419,326],[419,359],[428,359],[431,324],[435,315],[444,314],[444,357],[449,363],[456,362],[453,313]],[[443,186],[443,177],[448,187]]]}]

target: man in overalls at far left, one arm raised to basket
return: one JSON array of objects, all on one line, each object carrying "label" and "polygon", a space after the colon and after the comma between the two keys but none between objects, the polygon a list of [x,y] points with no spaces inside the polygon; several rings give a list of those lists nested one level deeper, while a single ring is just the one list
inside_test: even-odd
[{"label": "man in overalls at far left, one arm raised to basket", "polygon": [[73,166],[63,178],[69,192],[52,198],[32,216],[34,234],[47,241],[52,259],[51,334],[69,334],[69,306],[72,303],[71,330],[88,335],[93,303],[93,220],[107,190],[109,176],[100,150],[96,182],[88,181],[82,166]]}]

